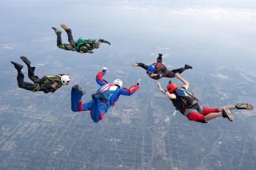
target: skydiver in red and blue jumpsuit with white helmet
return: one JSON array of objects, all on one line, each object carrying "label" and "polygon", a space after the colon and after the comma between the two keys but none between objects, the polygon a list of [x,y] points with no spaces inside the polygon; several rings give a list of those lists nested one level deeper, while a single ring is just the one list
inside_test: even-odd
[{"label": "skydiver in red and blue jumpsuit with white helmet", "polygon": [[71,90],[71,109],[73,112],[81,112],[90,110],[90,117],[95,122],[102,120],[107,110],[114,106],[120,95],[130,96],[138,90],[140,79],[136,85],[130,86],[129,89],[122,88],[122,81],[116,79],[113,83],[108,83],[102,77],[106,74],[107,68],[103,67],[102,71],[96,75],[96,82],[101,87],[92,95],[92,100],[87,103],[82,103],[82,96],[86,90],[80,85],[74,85]]}]

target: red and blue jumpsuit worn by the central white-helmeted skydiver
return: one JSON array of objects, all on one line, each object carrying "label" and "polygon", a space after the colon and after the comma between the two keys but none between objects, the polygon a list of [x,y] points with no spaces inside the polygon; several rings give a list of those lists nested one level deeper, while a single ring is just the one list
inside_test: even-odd
[{"label": "red and blue jumpsuit worn by the central white-helmeted skydiver", "polygon": [[[102,77],[106,73],[104,72],[98,72],[96,76],[96,82],[98,85],[106,85],[108,84],[107,81],[105,81]],[[80,89],[72,89],[71,91],[71,109],[73,112],[81,112],[81,111],[86,111],[90,110],[90,117],[95,123],[98,123],[98,121],[102,120],[104,114],[106,111],[111,107],[114,106],[114,103],[118,101],[118,98],[120,95],[124,96],[130,96],[132,95],[137,89],[139,88],[138,85],[132,85],[130,86],[129,89],[126,88],[121,88],[119,87],[115,90],[114,94],[110,97],[109,101],[104,101],[104,100],[98,100],[94,99],[87,102],[87,103],[82,103],[82,90]]]}]

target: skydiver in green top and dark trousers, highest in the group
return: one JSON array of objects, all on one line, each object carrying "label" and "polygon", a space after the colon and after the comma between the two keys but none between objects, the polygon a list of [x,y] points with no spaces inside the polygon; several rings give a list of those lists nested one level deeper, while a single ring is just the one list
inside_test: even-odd
[{"label": "skydiver in green top and dark trousers, highest in the group", "polygon": [[98,49],[101,45],[101,42],[110,45],[110,42],[103,39],[79,38],[78,41],[74,41],[71,29],[65,24],[62,24],[61,26],[66,31],[70,44],[62,44],[62,31],[52,27],[52,29],[57,34],[57,46],[60,49],[72,50],[78,53],[94,53],[92,50]]}]

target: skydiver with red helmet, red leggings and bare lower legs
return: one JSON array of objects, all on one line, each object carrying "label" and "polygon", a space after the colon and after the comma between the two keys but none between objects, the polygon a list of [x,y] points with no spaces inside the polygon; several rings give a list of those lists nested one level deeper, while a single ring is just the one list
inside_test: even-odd
[{"label": "skydiver with red helmet, red leggings and bare lower legs", "polygon": [[247,109],[253,110],[254,105],[249,103],[237,103],[236,105],[228,105],[219,108],[202,107],[198,103],[198,99],[194,97],[193,93],[187,91],[190,84],[184,78],[180,77],[179,73],[175,73],[175,77],[182,81],[183,86],[178,88],[173,82],[169,82],[166,89],[162,89],[161,84],[158,82],[158,89],[172,101],[174,107],[186,116],[190,121],[198,121],[207,123],[208,121],[217,117],[227,118],[229,121],[234,121],[231,115],[231,109]]}]

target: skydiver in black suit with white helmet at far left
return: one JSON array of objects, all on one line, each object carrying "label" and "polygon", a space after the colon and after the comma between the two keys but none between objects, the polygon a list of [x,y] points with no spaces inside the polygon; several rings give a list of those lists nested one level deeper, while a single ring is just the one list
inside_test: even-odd
[{"label": "skydiver in black suit with white helmet at far left", "polygon": [[21,57],[22,61],[25,62],[28,69],[28,77],[31,81],[34,82],[24,82],[24,74],[22,73],[23,65],[18,64],[17,62],[10,61],[14,68],[18,71],[17,81],[18,87],[26,90],[30,90],[32,92],[43,91],[44,93],[54,93],[57,89],[59,89],[62,85],[69,85],[70,77],[68,74],[58,74],[55,76],[44,76],[39,78],[34,75],[35,67],[31,67],[31,62],[24,56]]}]

